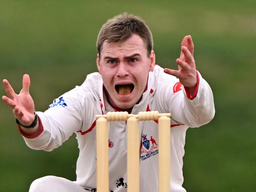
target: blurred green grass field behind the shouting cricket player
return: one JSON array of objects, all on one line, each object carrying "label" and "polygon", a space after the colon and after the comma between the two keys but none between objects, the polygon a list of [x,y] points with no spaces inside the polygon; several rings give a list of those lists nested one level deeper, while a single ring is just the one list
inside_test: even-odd
[{"label": "blurred green grass field behind the shouting cricket player", "polygon": [[[96,38],[108,18],[122,12],[143,18],[153,33],[156,63],[169,68],[176,68],[180,42],[190,34],[216,114],[209,124],[187,131],[184,187],[188,192],[254,192],[255,10],[255,0],[1,0],[0,79],[19,92],[22,75],[29,74],[36,110],[45,111],[97,70]],[[0,191],[26,192],[45,175],[76,179],[75,135],[50,153],[31,150],[3,102],[0,114]]]}]

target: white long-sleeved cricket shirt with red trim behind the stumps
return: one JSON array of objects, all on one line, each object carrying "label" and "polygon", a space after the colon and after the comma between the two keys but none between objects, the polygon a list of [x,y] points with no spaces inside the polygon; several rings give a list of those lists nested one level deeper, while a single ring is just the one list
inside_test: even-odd
[{"label": "white long-sleeved cricket shirt with red trim behind the stumps", "polygon": [[[208,83],[197,72],[197,90],[191,96],[179,79],[165,74],[156,65],[149,72],[147,90],[132,109],[171,113],[171,192],[186,192],[182,187],[182,157],[186,130],[210,122],[215,109]],[[37,137],[24,136],[26,144],[37,150],[52,151],[73,133],[80,149],[76,167],[76,183],[88,191],[96,191],[96,114],[115,111],[103,99],[100,73],[89,74],[81,86],[63,94],[44,113],[37,112],[43,130]],[[139,122],[140,192],[158,191],[158,122]],[[126,122],[109,122],[109,191],[127,191]]]}]

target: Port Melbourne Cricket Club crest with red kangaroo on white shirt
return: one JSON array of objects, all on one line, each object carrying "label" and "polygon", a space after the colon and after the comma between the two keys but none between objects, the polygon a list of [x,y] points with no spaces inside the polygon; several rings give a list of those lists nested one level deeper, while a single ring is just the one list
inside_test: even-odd
[{"label": "Port Melbourne Cricket Club crest with red kangaroo on white shirt", "polygon": [[147,138],[147,134],[143,134],[141,140],[141,160],[148,159],[156,154],[158,154],[158,144],[153,138],[153,135],[150,136],[150,139]]}]

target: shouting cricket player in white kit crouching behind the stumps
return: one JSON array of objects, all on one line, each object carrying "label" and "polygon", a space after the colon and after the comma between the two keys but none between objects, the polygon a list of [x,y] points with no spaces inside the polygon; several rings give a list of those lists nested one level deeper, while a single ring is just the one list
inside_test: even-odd
[{"label": "shouting cricket player in white kit crouching behind the stumps", "polygon": [[[4,79],[2,100],[16,117],[20,134],[35,150],[52,151],[76,133],[80,149],[76,181],[46,176],[33,181],[30,192],[96,192],[96,114],[109,111],[171,113],[171,192],[182,187],[186,130],[211,121],[213,94],[196,70],[190,35],[182,40],[178,70],[155,64],[152,34],[145,22],[123,13],[106,22],[96,43],[98,72],[81,86],[56,98],[45,112],[35,111],[30,77],[16,94]],[[158,191],[158,122],[139,122],[140,192]],[[109,191],[126,192],[126,122],[109,122]],[[161,139],[161,138],[160,138]],[[61,159],[60,159],[61,162]]]}]

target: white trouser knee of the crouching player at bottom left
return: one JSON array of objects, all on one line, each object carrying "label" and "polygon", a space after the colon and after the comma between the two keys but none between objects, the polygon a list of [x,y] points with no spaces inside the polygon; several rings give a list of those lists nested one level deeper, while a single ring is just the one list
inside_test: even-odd
[{"label": "white trouser knee of the crouching player at bottom left", "polygon": [[87,192],[87,190],[68,179],[46,176],[33,181],[29,192]]}]

